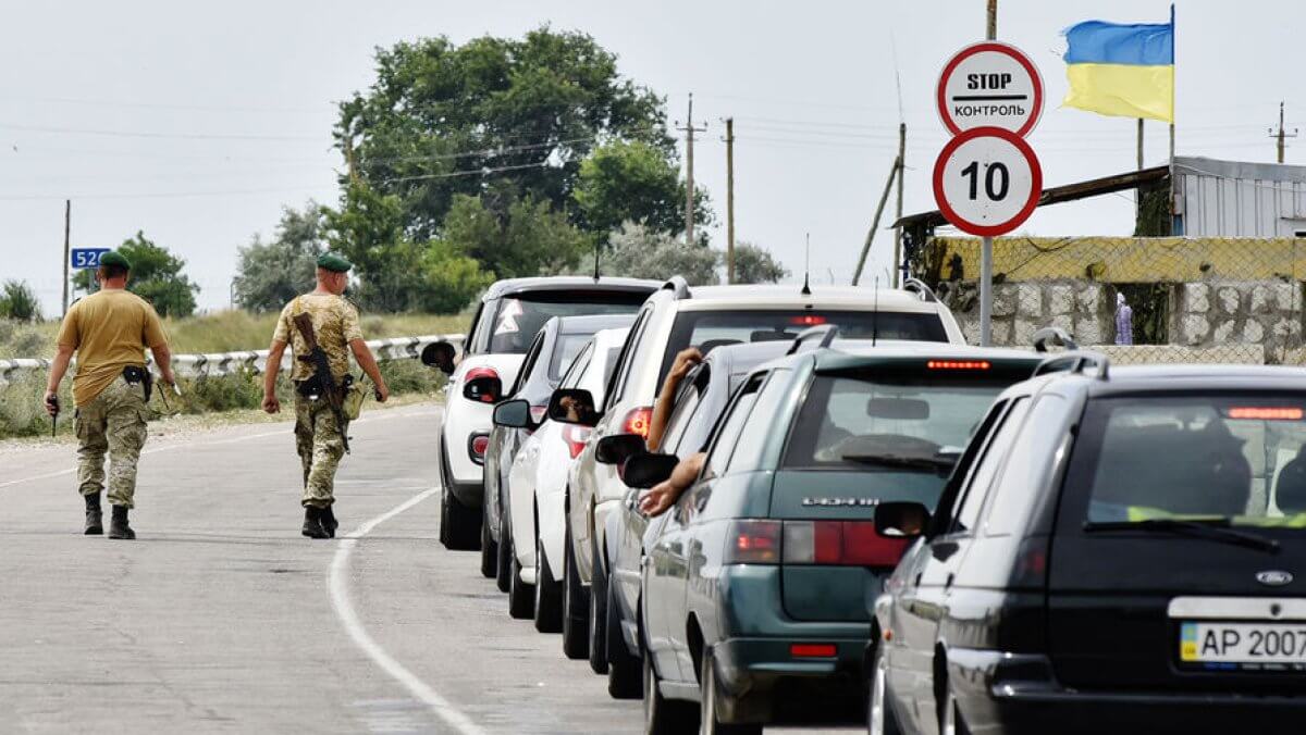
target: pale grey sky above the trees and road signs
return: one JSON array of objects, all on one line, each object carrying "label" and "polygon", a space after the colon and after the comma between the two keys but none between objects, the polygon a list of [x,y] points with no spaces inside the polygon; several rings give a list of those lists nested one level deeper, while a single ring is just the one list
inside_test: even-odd
[{"label": "pale grey sky above the trees and road signs", "polygon": [[[137,230],[187,261],[202,309],[229,304],[236,249],[270,235],[285,206],[334,204],[337,103],[366,89],[374,52],[400,40],[518,37],[543,23],[593,35],[623,74],[662,94],[669,119],[708,125],[695,178],[725,243],[722,119],[735,120],[737,239],[769,249],[801,282],[848,283],[908,125],[905,211],[934,209],[946,142],[931,104],[956,50],[980,40],[985,0],[227,0],[21,3],[0,25],[0,281],[27,281],[60,309],[64,200],[73,247]],[[1060,31],[1083,20],[1164,22],[1160,0],[1000,0],[998,38],[1033,57],[1047,106],[1029,136],[1045,185],[1135,167],[1135,121],[1062,108]],[[1290,50],[1306,4],[1177,3],[1181,155],[1272,162],[1279,102],[1306,123]],[[899,95],[901,87],[901,102]],[[1293,97],[1296,95],[1296,98]],[[1148,123],[1148,164],[1166,128]],[[1288,163],[1306,163],[1289,146]],[[889,204],[892,209],[892,200]],[[1124,235],[1130,195],[1038,210],[1021,232]],[[889,213],[892,214],[892,211]],[[885,217],[885,225],[891,218]],[[882,225],[883,226],[883,225]],[[863,282],[885,278],[880,231]]]}]

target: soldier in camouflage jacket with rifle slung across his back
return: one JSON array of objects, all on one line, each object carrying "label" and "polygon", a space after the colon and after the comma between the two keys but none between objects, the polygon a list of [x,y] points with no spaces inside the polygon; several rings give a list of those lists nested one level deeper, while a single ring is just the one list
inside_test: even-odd
[{"label": "soldier in camouflage jacket with rifle slung across his back", "polygon": [[358,325],[358,309],[342,294],[349,285],[350,262],[336,255],[317,258],[317,289],[311,294],[296,296],[286,304],[277,320],[277,330],[272,336],[268,350],[268,369],[264,373],[263,409],[269,414],[281,410],[277,399],[277,366],[286,346],[291,346],[290,379],[295,384],[295,446],[304,470],[304,492],[300,504],[304,507],[304,526],[302,533],[308,538],[333,538],[336,535],[334,482],[336,469],[345,456],[343,435],[347,426],[340,426],[330,405],[319,396],[311,384],[313,368],[307,360],[304,338],[295,329],[293,320],[307,313],[313,322],[313,336],[317,345],[326,352],[332,377],[336,385],[342,385],[349,373],[349,355],[354,354],[358,366],[372,379],[376,397],[384,402],[389,397],[385,380],[376,367],[372,351],[363,341]]}]

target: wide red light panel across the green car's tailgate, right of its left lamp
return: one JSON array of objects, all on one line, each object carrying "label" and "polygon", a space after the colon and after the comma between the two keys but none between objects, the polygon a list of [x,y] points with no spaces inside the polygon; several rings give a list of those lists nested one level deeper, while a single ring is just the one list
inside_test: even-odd
[{"label": "wide red light panel across the green car's tailgate, right of its left lamp", "polygon": [[909,539],[882,537],[874,521],[785,521],[785,564],[895,567]]}]

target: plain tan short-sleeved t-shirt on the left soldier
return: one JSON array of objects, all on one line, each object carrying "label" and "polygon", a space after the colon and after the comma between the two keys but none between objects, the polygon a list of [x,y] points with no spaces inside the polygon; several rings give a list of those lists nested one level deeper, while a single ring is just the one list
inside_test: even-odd
[{"label": "plain tan short-sleeved t-shirt on the left soldier", "polygon": [[95,399],[123,368],[145,366],[145,349],[167,342],[154,307],[123,289],[97,291],[68,307],[59,346],[77,351],[73,402]]}]

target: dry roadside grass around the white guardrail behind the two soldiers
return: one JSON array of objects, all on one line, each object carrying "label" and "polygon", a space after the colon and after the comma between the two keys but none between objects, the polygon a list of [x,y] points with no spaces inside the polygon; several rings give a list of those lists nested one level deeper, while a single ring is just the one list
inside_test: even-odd
[{"label": "dry roadside grass around the white guardrail behind the two soldiers", "polygon": [[[229,352],[265,349],[272,338],[277,315],[249,315],[221,312],[185,320],[168,320],[167,330],[174,354]],[[368,339],[385,337],[417,337],[421,334],[461,333],[468,326],[466,316],[387,315],[363,317],[363,333]],[[59,325],[18,324],[0,320],[0,359],[50,358]],[[418,360],[383,360],[381,375],[392,396],[434,396],[444,386],[444,375]],[[355,375],[360,371],[354,369]],[[21,436],[50,436],[51,424],[42,405],[47,375],[44,371],[22,371],[8,384],[0,384],[0,439]],[[179,379],[182,398],[167,396],[172,413],[201,415],[235,413],[256,414],[263,403],[263,376],[243,371],[226,376]],[[158,390],[157,390],[158,392]],[[277,394],[283,406],[294,399],[289,379],[277,380]],[[72,379],[60,385],[59,433],[73,431]],[[153,409],[165,413],[163,398],[154,396]],[[274,420],[274,419],[270,419]]]}]

